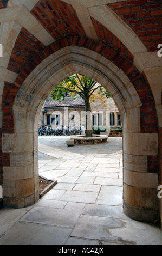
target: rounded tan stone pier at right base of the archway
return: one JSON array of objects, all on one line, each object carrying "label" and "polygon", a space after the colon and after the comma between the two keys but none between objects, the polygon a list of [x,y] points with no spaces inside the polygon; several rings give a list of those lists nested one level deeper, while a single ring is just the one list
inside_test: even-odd
[{"label": "rounded tan stone pier at right base of the archway", "polygon": [[157,134],[123,133],[124,212],[138,221],[158,219],[158,174],[148,173],[147,156],[156,156]]}]

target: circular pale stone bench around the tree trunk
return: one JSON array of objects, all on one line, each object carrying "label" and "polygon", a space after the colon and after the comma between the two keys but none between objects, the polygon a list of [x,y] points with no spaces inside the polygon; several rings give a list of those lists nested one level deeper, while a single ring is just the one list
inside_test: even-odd
[{"label": "circular pale stone bench around the tree trunk", "polygon": [[70,136],[70,139],[74,140],[74,143],[77,141],[78,143],[81,143],[81,141],[95,141],[101,140],[102,142],[107,142],[107,135],[93,135],[93,137],[86,137],[86,135],[73,135]]}]

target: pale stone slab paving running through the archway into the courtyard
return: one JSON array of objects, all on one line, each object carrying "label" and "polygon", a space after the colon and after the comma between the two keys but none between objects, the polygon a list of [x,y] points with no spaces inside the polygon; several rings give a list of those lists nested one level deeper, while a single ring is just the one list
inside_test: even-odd
[{"label": "pale stone slab paving running through the archway into the courtyard", "polygon": [[0,211],[0,245],[162,245],[158,224],[122,210],[122,138],[67,147],[39,137],[40,175],[56,186],[34,206]]}]

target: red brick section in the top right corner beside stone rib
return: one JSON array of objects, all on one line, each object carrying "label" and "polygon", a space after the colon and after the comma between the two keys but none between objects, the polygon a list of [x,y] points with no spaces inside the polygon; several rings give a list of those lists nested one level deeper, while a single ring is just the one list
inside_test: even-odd
[{"label": "red brick section in the top right corner beside stone rib", "polygon": [[128,0],[108,4],[131,26],[148,51],[157,51],[162,42],[162,5],[157,0]]}]

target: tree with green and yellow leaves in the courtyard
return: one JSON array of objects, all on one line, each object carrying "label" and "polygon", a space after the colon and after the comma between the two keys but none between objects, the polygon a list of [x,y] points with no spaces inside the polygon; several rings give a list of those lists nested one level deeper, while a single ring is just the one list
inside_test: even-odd
[{"label": "tree with green and yellow leaves in the courtyard", "polygon": [[[90,103],[96,99],[100,99],[102,105],[106,106],[106,98],[111,97],[105,88],[97,84],[95,80],[80,74],[74,74],[59,83],[51,92],[51,97],[54,100],[62,101],[65,99],[65,92],[69,92],[72,97],[79,94],[85,101],[86,112],[91,112]],[[86,137],[93,137],[92,127],[89,129],[87,124],[86,115]]]}]

